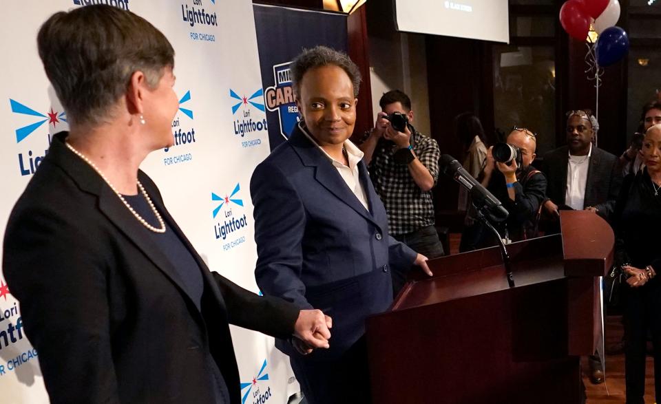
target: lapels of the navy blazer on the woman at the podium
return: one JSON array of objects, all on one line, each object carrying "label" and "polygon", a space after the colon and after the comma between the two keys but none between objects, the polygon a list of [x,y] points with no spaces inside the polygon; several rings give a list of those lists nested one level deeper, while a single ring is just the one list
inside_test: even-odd
[{"label": "lapels of the navy blazer on the woman at the podium", "polygon": [[[322,154],[316,145],[313,145],[312,142],[302,133],[302,129],[296,125],[294,131],[289,138],[289,144],[293,147],[294,151],[300,156],[302,162],[306,166],[315,167],[315,180],[322,184],[322,186],[330,193],[333,193],[339,200],[348,204],[353,210],[355,210],[359,215],[365,217],[370,222],[373,222],[375,225],[379,224],[375,221],[372,213],[365,209],[365,206],[361,204],[357,196],[347,187],[346,182],[342,179],[342,176],[337,173],[337,169],[333,167],[333,164],[328,161],[328,158]],[[361,167],[362,162],[359,163]],[[360,171],[360,168],[359,168]],[[361,175],[361,177],[364,177]],[[361,184],[365,189],[366,195],[368,192],[368,187],[365,187],[364,180],[361,179]],[[370,198],[370,195],[368,195]],[[368,199],[368,206],[372,206],[372,201]],[[380,228],[381,226],[379,226]]]}]

